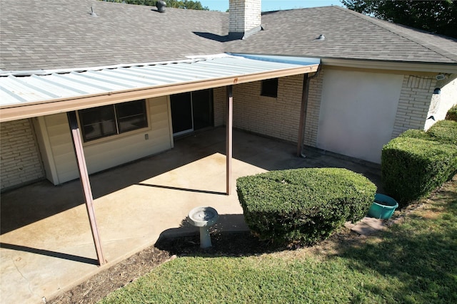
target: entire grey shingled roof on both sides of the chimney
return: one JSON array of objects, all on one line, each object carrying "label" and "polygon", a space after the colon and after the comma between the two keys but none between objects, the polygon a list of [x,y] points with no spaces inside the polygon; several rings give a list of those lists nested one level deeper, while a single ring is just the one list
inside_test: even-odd
[{"label": "entire grey shingled roof on both sides of the chimney", "polygon": [[[2,0],[0,69],[176,61],[224,52],[457,65],[456,39],[339,6],[266,12],[262,24],[263,31],[230,41],[228,13],[160,14],[151,6],[95,0]],[[316,40],[321,34],[326,39]]]}]

